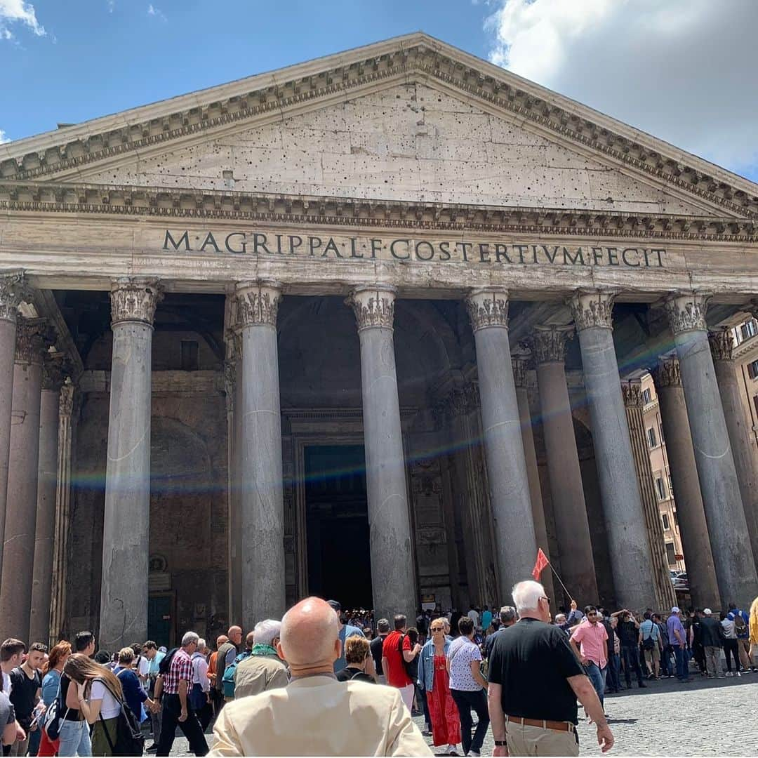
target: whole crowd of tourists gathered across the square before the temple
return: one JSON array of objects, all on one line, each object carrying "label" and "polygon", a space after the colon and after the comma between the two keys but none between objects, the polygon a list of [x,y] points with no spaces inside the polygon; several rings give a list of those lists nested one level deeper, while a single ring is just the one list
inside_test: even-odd
[{"label": "whole crowd of tourists gathered across the square before the temple", "polygon": [[215,650],[194,631],[172,650],[146,641],[113,654],[89,631],[51,650],[8,639],[3,752],[168,756],[178,728],[204,756],[213,721],[211,755],[429,755],[431,738],[437,755],[478,756],[490,729],[495,755],[576,755],[577,701],[606,752],[607,693],[758,672],[758,599],[718,618],[575,602],[552,618],[536,581],[512,597],[499,611],[425,609],[415,626],[308,598],[244,640],[231,626]]}]

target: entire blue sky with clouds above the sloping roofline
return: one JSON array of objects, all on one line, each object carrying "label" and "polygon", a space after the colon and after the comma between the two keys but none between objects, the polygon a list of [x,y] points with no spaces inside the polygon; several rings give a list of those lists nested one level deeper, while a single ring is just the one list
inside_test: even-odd
[{"label": "entire blue sky with clouds above the sloping roofline", "polygon": [[0,139],[423,30],[758,180],[758,2],[0,0]]}]

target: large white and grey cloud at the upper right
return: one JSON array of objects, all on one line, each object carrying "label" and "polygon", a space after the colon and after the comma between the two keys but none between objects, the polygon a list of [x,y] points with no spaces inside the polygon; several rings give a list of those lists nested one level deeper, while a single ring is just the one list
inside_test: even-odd
[{"label": "large white and grey cloud at the upper right", "polygon": [[731,171],[758,165],[758,2],[499,3],[493,63]]}]

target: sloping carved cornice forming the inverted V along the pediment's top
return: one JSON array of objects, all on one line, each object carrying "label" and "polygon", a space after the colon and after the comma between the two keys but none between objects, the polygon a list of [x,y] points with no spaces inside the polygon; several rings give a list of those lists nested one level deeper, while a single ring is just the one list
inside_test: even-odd
[{"label": "sloping carved cornice forming the inverted V along the pediment's top", "polygon": [[758,215],[758,185],[423,33],[133,108],[0,146],[0,179],[46,180],[383,80],[438,80],[723,208]]}]

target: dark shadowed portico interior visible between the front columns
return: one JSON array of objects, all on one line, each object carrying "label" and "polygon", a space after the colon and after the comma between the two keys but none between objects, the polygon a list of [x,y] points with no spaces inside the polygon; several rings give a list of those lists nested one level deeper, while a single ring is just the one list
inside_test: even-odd
[{"label": "dark shadowed portico interior visible between the front columns", "polygon": [[[55,299],[85,369],[74,448],[65,618],[72,628],[97,628],[110,305],[108,293],[98,291],[58,291]],[[234,530],[227,497],[224,307],[222,295],[170,292],[155,315],[150,587],[151,612],[160,619],[151,623],[172,642],[187,625],[213,637],[236,615],[236,595],[230,591]],[[513,301],[512,347],[534,323],[546,315],[560,321],[561,312],[558,304]],[[622,371],[645,365],[640,346],[656,328],[656,311],[648,305],[616,306],[614,336]],[[381,578],[371,576],[368,554],[355,319],[341,297],[285,296],[277,332],[287,600],[305,592],[341,591],[344,603],[365,606],[370,582]],[[497,536],[478,409],[461,409],[462,421],[456,424],[443,412],[446,396],[476,379],[465,306],[453,300],[399,298],[394,344],[415,535],[415,565],[409,572],[415,575],[419,595],[434,597],[442,606],[500,603],[493,550]],[[600,599],[612,603],[609,548],[576,340],[569,343],[566,371]],[[531,385],[547,547],[560,570],[539,401],[534,381]],[[92,583],[82,583],[80,577],[89,572]],[[158,622],[163,626],[155,626]]]}]

